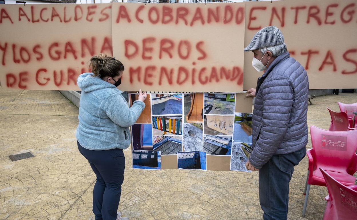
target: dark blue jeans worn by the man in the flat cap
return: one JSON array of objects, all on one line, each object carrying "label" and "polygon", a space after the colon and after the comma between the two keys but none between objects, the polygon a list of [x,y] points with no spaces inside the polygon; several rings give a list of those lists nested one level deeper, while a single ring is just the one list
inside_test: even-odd
[{"label": "dark blue jeans worn by the man in the flat cap", "polygon": [[288,214],[289,182],[294,166],[305,157],[306,148],[293,153],[273,155],[259,169],[259,199],[264,220],[285,220]]}]

